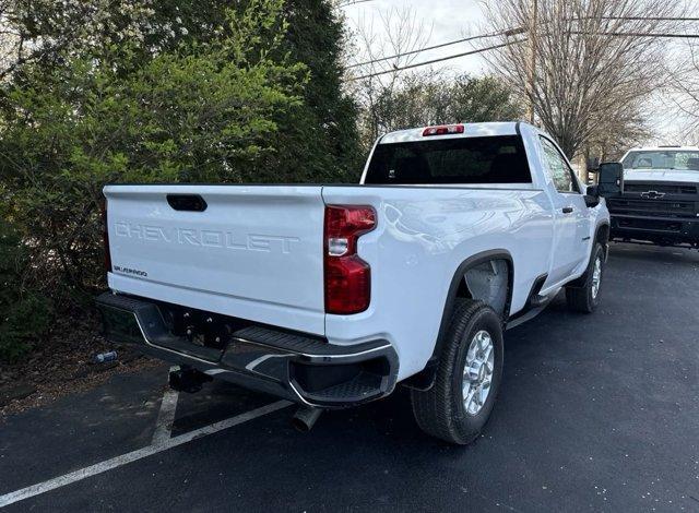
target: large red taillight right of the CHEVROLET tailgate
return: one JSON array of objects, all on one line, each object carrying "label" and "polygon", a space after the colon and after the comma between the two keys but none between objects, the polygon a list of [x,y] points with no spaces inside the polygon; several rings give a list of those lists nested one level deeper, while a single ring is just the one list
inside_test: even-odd
[{"label": "large red taillight right of the CHEVROLET tailgate", "polygon": [[325,206],[327,313],[359,313],[369,308],[371,269],[357,254],[357,239],[375,227],[371,206]]}]

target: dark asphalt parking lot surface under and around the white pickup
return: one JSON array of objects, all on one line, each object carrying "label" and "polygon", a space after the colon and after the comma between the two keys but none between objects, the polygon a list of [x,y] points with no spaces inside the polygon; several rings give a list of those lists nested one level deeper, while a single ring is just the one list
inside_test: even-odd
[{"label": "dark asphalt parking lot surface under and around the white pickup", "polygon": [[[452,448],[399,391],[325,414],[167,368],[0,423],[8,511],[699,511],[699,252],[613,244],[602,308],[506,334],[484,436]],[[164,399],[165,397],[165,399]],[[163,404],[165,403],[165,404]]]}]

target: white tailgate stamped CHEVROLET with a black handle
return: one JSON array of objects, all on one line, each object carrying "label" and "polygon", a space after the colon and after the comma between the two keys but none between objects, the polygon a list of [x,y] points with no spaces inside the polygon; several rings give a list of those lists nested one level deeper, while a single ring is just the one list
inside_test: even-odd
[{"label": "white tailgate stamped CHEVROLET with a black handle", "polygon": [[111,289],[324,333],[320,187],[107,186],[105,196]]}]

